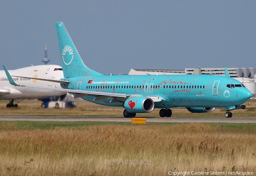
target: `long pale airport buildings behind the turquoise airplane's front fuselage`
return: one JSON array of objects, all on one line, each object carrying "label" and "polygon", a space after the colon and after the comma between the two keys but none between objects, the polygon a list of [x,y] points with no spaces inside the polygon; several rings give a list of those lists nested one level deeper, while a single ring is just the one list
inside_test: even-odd
[{"label": "long pale airport buildings behind the turquoise airplane's front fuselage", "polygon": [[[194,69],[131,69],[128,74],[212,74],[225,76],[225,68],[194,68]],[[256,94],[256,68],[228,68],[230,77],[242,82],[253,96]]]}]

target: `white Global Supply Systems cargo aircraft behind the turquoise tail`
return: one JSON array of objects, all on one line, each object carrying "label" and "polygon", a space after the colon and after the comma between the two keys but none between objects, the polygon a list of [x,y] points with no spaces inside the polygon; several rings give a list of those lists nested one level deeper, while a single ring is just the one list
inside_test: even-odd
[{"label": "white Global Supply Systems cargo aircraft behind the turquoise tail", "polygon": [[[46,87],[46,88],[61,88],[59,83],[46,82],[32,78],[45,78],[50,80],[59,80],[64,78],[62,67],[59,65],[35,65],[24,67],[16,70],[10,70],[12,75],[22,75],[30,78],[13,77],[17,84]],[[13,104],[16,99],[30,98],[48,98],[51,96],[61,96],[66,92],[58,92],[54,90],[38,90],[28,89],[25,87],[13,86],[9,83],[4,70],[0,70],[0,100],[10,100],[7,107],[17,107]]]}]

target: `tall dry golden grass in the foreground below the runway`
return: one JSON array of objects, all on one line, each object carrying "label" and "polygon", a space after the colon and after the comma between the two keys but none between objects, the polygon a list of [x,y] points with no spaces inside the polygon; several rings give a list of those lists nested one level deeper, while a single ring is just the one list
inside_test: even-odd
[{"label": "tall dry golden grass in the foreground below the runway", "polygon": [[[186,125],[94,125],[21,129],[0,123],[1,175],[256,173],[256,129]],[[115,160],[112,164],[108,160]],[[132,164],[119,161],[132,160]],[[151,160],[136,164],[136,160]],[[115,162],[117,164],[115,164]],[[145,163],[145,162],[144,162]]]}]

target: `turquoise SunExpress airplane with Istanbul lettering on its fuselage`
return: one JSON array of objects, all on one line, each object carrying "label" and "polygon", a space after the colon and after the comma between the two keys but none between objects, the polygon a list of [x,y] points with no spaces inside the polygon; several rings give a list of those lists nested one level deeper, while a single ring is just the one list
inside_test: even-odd
[{"label": "turquoise SunExpress airplane with Istanbul lettering on its fuselage", "polygon": [[[124,107],[124,117],[136,113],[149,113],[160,108],[161,117],[171,117],[169,108],[186,107],[192,113],[206,113],[215,107],[225,107],[225,117],[232,117],[231,110],[252,96],[245,86],[229,77],[215,75],[103,75],[84,65],[62,22],[56,22],[57,37],[64,78],[46,80],[61,84],[63,89],[25,86],[72,93],[74,98],[89,102]],[[9,82],[16,84],[8,73]],[[16,75],[17,76],[17,75]],[[22,75],[18,75],[22,77]],[[28,77],[22,77],[28,78]]]}]

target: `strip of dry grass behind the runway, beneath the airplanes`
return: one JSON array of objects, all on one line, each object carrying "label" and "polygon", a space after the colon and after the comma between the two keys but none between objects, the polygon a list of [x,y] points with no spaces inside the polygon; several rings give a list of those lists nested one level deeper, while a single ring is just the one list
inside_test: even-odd
[{"label": "strip of dry grass behind the runway, beneath the airplanes", "polygon": [[[9,100],[0,100],[0,115],[24,115],[24,116],[107,116],[123,117],[123,107],[111,107],[98,105],[81,99],[72,99],[77,107],[69,109],[41,108],[41,101],[38,100],[20,100],[18,108],[6,108]],[[17,103],[17,102],[15,102]],[[245,110],[232,111],[233,117],[255,117],[256,101],[250,100],[250,105],[246,102]],[[181,110],[182,109],[182,110]],[[225,109],[215,109],[210,113],[191,113],[185,108],[172,108],[173,117],[224,117]],[[151,113],[137,113],[137,117],[159,117],[159,109],[154,109]]]}]

